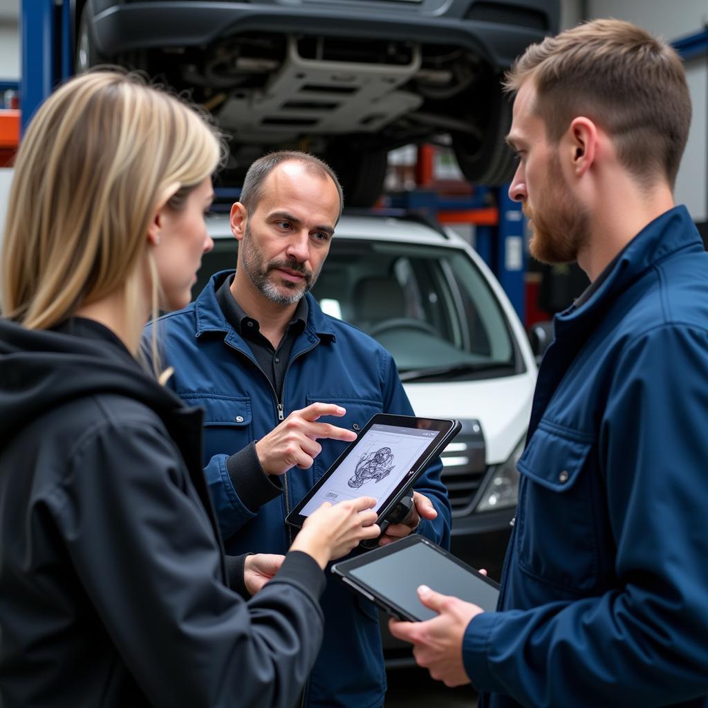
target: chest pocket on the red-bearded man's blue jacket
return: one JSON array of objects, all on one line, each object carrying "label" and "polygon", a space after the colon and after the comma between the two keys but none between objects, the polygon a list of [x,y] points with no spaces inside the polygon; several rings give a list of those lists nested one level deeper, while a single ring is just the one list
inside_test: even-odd
[{"label": "chest pocket on the red-bearded man's blue jacket", "polygon": [[587,435],[543,421],[518,469],[520,569],[538,581],[583,594],[598,583],[598,473]]}]

